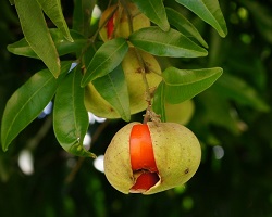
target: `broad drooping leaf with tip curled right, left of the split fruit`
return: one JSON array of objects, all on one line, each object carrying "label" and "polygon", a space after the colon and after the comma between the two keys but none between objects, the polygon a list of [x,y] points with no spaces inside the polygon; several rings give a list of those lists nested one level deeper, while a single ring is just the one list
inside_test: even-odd
[{"label": "broad drooping leaf with tip curled right, left of the split fruit", "polygon": [[95,157],[86,151],[83,140],[89,126],[84,105],[84,88],[81,87],[81,68],[72,71],[60,84],[54,99],[53,129],[61,146],[77,156]]}]

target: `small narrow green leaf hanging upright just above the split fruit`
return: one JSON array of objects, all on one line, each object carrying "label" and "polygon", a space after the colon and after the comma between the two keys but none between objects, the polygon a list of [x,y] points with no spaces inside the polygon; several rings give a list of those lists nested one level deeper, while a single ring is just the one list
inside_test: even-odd
[{"label": "small narrow green leaf hanging upright just above the split fruit", "polygon": [[164,89],[165,89],[165,84],[162,81],[162,82],[160,82],[160,85],[156,89],[154,97],[153,97],[153,103],[152,103],[153,112],[156,114],[160,115],[161,122],[166,120],[165,106],[164,106],[164,103],[165,103]]}]

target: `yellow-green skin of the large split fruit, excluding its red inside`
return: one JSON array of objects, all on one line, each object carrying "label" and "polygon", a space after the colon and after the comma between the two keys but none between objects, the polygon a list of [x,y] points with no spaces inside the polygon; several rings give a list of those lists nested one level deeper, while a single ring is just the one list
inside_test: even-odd
[{"label": "yellow-green skin of the large split fruit, excluding its red inside", "polygon": [[[119,191],[128,193],[135,180],[129,159],[131,123],[112,139],[104,154],[104,174]],[[160,181],[143,194],[153,194],[187,182],[197,171],[201,148],[196,136],[175,123],[147,123]]]}]

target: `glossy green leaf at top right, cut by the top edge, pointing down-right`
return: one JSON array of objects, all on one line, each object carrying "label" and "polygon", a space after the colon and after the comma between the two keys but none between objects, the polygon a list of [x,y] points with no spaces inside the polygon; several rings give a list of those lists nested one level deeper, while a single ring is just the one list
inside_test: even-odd
[{"label": "glossy green leaf at top right, cut by the top edge, pointing down-right", "polygon": [[176,2],[183,4],[210,24],[221,37],[226,36],[227,28],[218,0],[176,0]]}]

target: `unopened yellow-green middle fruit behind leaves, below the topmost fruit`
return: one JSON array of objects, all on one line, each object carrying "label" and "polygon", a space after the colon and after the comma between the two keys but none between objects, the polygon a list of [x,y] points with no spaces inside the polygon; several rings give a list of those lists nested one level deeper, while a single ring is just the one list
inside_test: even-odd
[{"label": "unopened yellow-green middle fruit behind leaves, below the topmost fruit", "polygon": [[[150,88],[156,88],[162,80],[161,68],[157,60],[149,53],[139,51],[146,64],[146,78]],[[146,86],[143,81],[141,65],[135,53],[135,48],[129,48],[124,60],[122,68],[127,84],[131,114],[136,114],[147,108]],[[153,73],[156,72],[156,73]],[[91,82],[85,89],[86,108],[99,117],[120,118],[114,108],[99,94]]]}]

